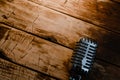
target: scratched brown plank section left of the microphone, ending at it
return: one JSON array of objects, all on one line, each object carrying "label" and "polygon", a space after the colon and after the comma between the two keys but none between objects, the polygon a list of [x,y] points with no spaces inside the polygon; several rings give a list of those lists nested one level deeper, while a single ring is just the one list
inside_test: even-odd
[{"label": "scratched brown plank section left of the microphone, ending at it", "polygon": [[0,30],[4,35],[0,49],[10,60],[57,78],[68,77],[72,50],[5,25],[0,25]]}]

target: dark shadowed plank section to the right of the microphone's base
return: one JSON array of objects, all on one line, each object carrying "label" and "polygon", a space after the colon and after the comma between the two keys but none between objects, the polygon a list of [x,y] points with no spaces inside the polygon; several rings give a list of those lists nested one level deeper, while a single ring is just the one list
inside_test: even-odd
[{"label": "dark shadowed plank section to the right of the microphone's base", "polygon": [[89,75],[89,80],[119,80],[120,68],[101,62],[96,61],[93,69]]}]

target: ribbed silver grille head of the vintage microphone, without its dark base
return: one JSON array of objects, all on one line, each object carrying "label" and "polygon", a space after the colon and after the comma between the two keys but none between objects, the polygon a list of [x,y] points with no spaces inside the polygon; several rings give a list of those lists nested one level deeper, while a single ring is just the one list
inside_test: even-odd
[{"label": "ribbed silver grille head of the vintage microphone, without its dark base", "polygon": [[83,72],[89,72],[93,65],[97,43],[91,38],[82,38],[74,49],[72,63],[80,67]]}]

